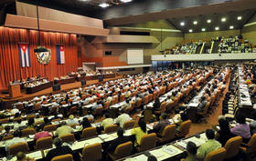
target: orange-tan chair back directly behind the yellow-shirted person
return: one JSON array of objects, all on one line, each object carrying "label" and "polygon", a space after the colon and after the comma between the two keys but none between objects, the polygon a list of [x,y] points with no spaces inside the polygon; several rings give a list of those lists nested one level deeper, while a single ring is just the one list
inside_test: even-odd
[{"label": "orange-tan chair back directly behind the yellow-shirted person", "polygon": [[156,140],[157,140],[157,136],[155,133],[146,134],[142,136],[139,151],[143,152],[145,150],[154,148],[156,146]]}]

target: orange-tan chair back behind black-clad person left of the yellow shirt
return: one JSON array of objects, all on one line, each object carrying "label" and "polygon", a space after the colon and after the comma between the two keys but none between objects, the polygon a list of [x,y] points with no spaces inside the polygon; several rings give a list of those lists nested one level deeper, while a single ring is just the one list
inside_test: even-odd
[{"label": "orange-tan chair back behind black-clad person left of the yellow shirt", "polygon": [[130,156],[132,153],[133,143],[131,141],[123,143],[115,148],[115,160]]}]

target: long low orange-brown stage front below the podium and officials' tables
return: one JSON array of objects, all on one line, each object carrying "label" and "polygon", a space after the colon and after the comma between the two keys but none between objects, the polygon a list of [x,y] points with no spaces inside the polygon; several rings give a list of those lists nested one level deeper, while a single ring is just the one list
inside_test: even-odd
[{"label": "long low orange-brown stage front below the podium and officials' tables", "polygon": [[[119,78],[122,78],[122,77],[123,77],[123,75],[118,75],[118,76],[115,76],[114,78],[106,78],[106,79],[103,79],[103,82],[109,81],[109,80],[114,80],[114,79],[119,79]],[[98,80],[88,80],[86,86],[91,86],[92,84],[98,84],[98,83],[99,83]],[[74,82],[74,83],[69,83],[69,84],[65,84],[65,85],[60,85],[60,91],[79,88],[80,86],[81,86],[80,82]],[[26,94],[26,92],[23,92],[22,96],[12,98],[12,99],[9,98],[9,95],[3,95],[2,94],[2,95],[0,95],[0,97],[3,98],[3,101],[5,101],[5,103],[6,103],[5,108],[10,108],[11,105],[16,102],[16,100],[24,101],[24,100],[27,100],[27,99],[31,99],[35,96],[43,96],[43,95],[47,96],[50,93],[56,94],[56,93],[59,93],[60,91],[53,91],[52,87],[48,87],[47,89],[38,91],[34,94]]]}]

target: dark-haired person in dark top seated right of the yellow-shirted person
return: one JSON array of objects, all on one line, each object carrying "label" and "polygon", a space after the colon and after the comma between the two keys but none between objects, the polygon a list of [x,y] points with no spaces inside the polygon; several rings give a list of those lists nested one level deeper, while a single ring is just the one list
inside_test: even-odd
[{"label": "dark-haired person in dark top seated right of the yellow-shirted person", "polygon": [[165,126],[170,125],[170,121],[168,120],[168,115],[166,113],[161,114],[160,121],[153,126],[153,131],[158,134],[162,134]]}]

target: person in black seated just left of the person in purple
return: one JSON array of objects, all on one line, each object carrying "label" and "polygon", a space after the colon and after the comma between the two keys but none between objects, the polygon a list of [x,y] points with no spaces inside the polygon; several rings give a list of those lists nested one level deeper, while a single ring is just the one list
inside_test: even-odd
[{"label": "person in black seated just left of the person in purple", "polygon": [[222,146],[225,146],[229,138],[234,135],[230,132],[229,122],[226,119],[219,119],[219,128],[220,129],[217,130],[216,140],[218,140]]}]

